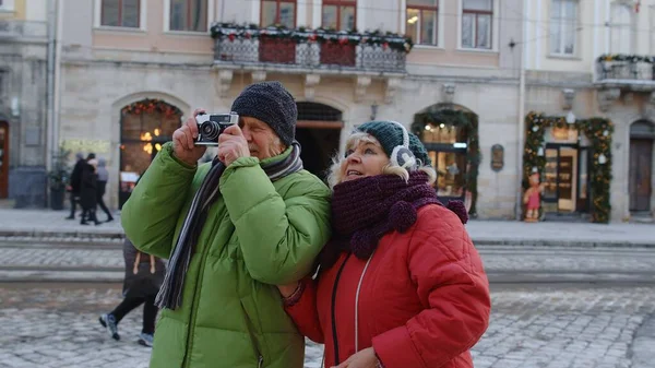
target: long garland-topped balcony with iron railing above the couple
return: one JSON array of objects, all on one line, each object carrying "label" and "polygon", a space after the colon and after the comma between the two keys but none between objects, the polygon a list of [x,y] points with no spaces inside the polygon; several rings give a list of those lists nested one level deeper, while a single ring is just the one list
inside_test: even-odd
[{"label": "long garland-topped balcony with iron railing above the couple", "polygon": [[252,70],[405,74],[412,39],[381,32],[335,32],[216,23],[214,62]]}]

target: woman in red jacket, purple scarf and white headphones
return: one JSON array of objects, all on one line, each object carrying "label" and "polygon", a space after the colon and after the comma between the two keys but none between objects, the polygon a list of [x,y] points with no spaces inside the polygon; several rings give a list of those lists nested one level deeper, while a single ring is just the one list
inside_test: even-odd
[{"label": "woman in red jacket, purple scarf and white headphones", "polygon": [[325,344],[325,367],[473,367],[490,299],[463,205],[437,200],[425,147],[397,122],[364,123],[346,147],[333,238],[313,280],[278,286],[287,313]]}]

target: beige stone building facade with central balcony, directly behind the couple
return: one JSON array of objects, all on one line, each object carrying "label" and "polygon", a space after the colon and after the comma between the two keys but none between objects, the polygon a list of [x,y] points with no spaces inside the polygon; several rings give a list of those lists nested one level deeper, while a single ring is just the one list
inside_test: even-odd
[{"label": "beige stone building facade with central balcony, directly behind the couple", "polygon": [[61,14],[59,140],[108,161],[114,207],[180,119],[278,80],[314,174],[356,124],[393,119],[425,132],[442,199],[515,216],[523,1],[67,0]]}]

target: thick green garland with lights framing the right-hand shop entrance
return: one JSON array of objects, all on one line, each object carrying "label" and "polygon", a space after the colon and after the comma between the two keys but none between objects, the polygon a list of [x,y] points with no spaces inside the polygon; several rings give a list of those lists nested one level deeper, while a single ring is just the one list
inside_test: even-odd
[{"label": "thick green garland with lights framing the right-hand shop entrance", "polygon": [[611,211],[609,202],[609,186],[611,181],[611,135],[614,124],[605,118],[591,118],[575,120],[575,123],[567,123],[563,117],[545,116],[532,111],[525,117],[527,129],[525,138],[525,150],[523,152],[523,187],[527,188],[528,177],[536,167],[539,175],[544,175],[546,156],[539,155],[539,149],[545,150],[544,134],[546,128],[574,128],[584,133],[593,150],[591,167],[591,195],[592,222],[607,224]]}]

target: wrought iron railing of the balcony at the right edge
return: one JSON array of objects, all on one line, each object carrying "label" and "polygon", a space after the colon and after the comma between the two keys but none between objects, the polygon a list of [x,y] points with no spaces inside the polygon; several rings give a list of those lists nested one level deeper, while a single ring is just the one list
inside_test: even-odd
[{"label": "wrought iron railing of the balcony at the right edge", "polygon": [[655,82],[655,56],[604,55],[596,60],[597,79]]}]

